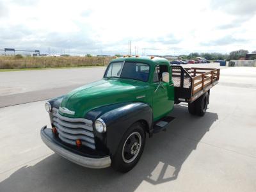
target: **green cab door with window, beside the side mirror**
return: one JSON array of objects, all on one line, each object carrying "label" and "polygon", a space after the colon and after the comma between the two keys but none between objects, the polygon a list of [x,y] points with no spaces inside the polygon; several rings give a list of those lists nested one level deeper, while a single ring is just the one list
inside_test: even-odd
[{"label": "green cab door with window, beside the side mirror", "polygon": [[169,82],[163,81],[163,73],[170,73],[170,67],[165,63],[159,64],[154,70],[154,77],[152,82],[152,108],[153,118],[159,120],[163,116],[172,111],[174,106],[174,87],[172,77],[169,77]]}]

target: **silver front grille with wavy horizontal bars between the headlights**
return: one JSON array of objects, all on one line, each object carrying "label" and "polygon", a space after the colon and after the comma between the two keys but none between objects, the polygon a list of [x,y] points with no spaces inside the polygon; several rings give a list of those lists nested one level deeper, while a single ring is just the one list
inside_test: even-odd
[{"label": "silver front grille with wavy horizontal bars between the headlights", "polygon": [[58,109],[52,108],[52,124],[63,142],[76,145],[76,140],[81,140],[82,145],[95,149],[92,120],[68,118],[60,115]]}]

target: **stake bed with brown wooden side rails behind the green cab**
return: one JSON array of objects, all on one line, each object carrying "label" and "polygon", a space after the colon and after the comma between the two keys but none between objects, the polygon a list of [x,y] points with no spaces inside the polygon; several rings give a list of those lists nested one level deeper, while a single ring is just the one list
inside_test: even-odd
[{"label": "stake bed with brown wooden side rails behind the green cab", "polygon": [[171,65],[175,103],[193,102],[208,92],[220,79],[220,68],[183,68]]}]

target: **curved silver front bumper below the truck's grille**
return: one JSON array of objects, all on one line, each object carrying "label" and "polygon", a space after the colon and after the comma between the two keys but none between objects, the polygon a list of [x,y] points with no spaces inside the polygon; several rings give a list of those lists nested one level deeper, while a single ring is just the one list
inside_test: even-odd
[{"label": "curved silver front bumper below the truck's grille", "polygon": [[109,156],[102,157],[102,158],[86,157],[61,147],[61,145],[58,145],[57,142],[54,142],[52,138],[48,134],[46,134],[45,129],[47,129],[46,126],[42,127],[40,132],[42,141],[44,141],[47,147],[51,148],[51,150],[56,152],[56,154],[59,154],[65,159],[68,159],[73,163],[76,163],[88,168],[107,168],[111,165],[111,159]]}]

